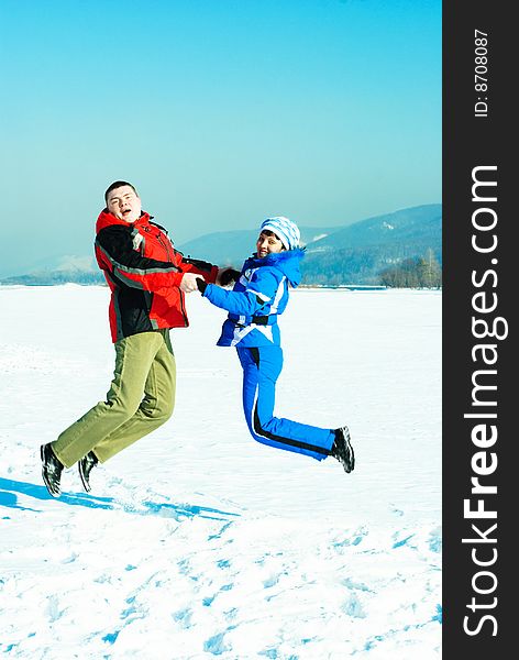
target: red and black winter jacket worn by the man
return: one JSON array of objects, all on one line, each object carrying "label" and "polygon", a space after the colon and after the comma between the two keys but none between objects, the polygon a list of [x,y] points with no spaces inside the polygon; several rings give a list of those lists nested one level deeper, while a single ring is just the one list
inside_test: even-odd
[{"label": "red and black winter jacket worn by the man", "polygon": [[214,283],[218,266],[177,252],[167,231],[148,213],[133,223],[106,209],[96,224],[96,258],[112,292],[109,309],[112,341],[161,328],[189,326],[184,273]]}]

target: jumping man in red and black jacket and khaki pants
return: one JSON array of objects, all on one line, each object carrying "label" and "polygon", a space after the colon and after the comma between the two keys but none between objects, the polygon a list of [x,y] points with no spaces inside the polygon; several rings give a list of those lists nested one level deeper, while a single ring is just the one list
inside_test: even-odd
[{"label": "jumping man in red and black jacket and khaki pants", "polygon": [[169,329],[187,327],[185,294],[200,276],[216,283],[212,264],[185,258],[164,228],[142,211],[128,182],[114,182],[96,226],[96,258],[111,289],[110,329],[115,370],[106,402],[100,402],[41,447],[43,481],[60,495],[64,468],[78,463],[87,493],[90,472],[169,419],[175,405],[176,370]]}]

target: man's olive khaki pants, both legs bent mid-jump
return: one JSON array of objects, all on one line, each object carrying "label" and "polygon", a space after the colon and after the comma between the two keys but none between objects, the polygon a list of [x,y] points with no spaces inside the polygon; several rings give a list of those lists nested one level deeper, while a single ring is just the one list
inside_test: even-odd
[{"label": "man's olive khaki pants, both legs bent mid-jump", "polygon": [[100,402],[52,443],[70,468],[89,451],[101,463],[169,419],[176,366],[168,330],[141,332],[115,342],[115,371]]}]

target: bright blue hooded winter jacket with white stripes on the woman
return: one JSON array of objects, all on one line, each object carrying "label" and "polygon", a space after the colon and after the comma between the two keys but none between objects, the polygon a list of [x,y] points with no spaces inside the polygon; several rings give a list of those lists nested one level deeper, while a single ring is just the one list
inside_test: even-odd
[{"label": "bright blue hooded winter jacket with white stripes on the woman", "polygon": [[263,258],[253,255],[243,264],[232,292],[207,285],[203,297],[229,311],[217,345],[279,345],[277,317],[288,304],[288,285],[295,288],[301,280],[299,264],[303,254],[297,249]]}]

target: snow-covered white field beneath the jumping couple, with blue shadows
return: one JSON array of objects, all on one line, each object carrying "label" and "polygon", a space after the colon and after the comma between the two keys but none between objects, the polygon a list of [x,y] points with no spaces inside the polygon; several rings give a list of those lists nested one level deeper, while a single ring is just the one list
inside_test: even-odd
[{"label": "snow-covered white field beneath the jumping couple, with blue shadows", "polygon": [[355,471],[255,443],[198,294],[172,420],[64,495],[38,447],[104,397],[104,287],[0,287],[0,651],[30,660],[441,657],[441,294],[298,290],[276,411]]}]

